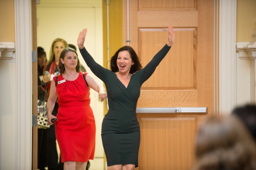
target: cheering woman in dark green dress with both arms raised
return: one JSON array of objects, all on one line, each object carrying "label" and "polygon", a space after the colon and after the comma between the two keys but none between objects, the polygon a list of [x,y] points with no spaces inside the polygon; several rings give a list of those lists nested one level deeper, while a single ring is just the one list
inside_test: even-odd
[{"label": "cheering woman in dark green dress with both arms raised", "polygon": [[101,139],[108,170],[134,170],[138,166],[140,125],[136,105],[140,87],[154,73],[174,42],[172,26],[168,27],[168,42],[142,69],[140,59],[130,46],[120,48],[110,60],[110,70],[97,64],[84,48],[87,29],[77,39],[79,50],[89,68],[106,85],[108,113],[101,127]]}]

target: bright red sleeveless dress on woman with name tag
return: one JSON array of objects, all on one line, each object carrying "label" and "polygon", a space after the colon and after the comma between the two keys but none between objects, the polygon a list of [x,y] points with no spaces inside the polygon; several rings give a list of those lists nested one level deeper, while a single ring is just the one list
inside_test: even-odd
[{"label": "bright red sleeveless dress on woman with name tag", "polygon": [[[56,81],[56,76],[53,80]],[[59,109],[54,124],[61,162],[87,162],[94,157],[96,133],[90,91],[82,72],[74,81],[64,80],[62,74],[57,81]]]}]

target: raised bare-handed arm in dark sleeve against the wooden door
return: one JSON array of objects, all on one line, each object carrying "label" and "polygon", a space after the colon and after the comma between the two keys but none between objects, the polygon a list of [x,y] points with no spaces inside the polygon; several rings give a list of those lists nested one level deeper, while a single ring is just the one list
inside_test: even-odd
[{"label": "raised bare-handed arm in dark sleeve against the wooden door", "polygon": [[170,50],[172,44],[174,43],[175,35],[171,25],[168,26],[168,33],[168,41],[164,45],[164,47],[152,58],[152,60],[147,64],[147,66],[140,70],[141,84],[148,80],[148,78],[154,73],[156,67],[164,59],[164,57]]}]

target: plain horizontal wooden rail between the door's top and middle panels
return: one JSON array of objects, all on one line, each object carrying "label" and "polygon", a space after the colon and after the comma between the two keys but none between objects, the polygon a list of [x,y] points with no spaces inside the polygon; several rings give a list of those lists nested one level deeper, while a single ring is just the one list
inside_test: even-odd
[{"label": "plain horizontal wooden rail between the door's top and middle panels", "polygon": [[138,27],[197,27],[197,15],[197,11],[139,11]]}]

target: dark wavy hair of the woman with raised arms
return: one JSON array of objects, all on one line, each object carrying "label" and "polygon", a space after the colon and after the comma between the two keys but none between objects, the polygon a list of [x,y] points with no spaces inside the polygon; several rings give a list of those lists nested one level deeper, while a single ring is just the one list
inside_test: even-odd
[{"label": "dark wavy hair of the woman with raised arms", "polygon": [[142,69],[142,66],[140,64],[140,58],[136,54],[136,52],[132,49],[130,46],[124,46],[121,47],[119,50],[116,51],[116,54],[111,57],[110,59],[110,70],[114,73],[118,72],[118,67],[116,64],[116,60],[118,57],[118,53],[121,51],[128,51],[130,53],[131,59],[134,62],[134,64],[131,66],[130,72],[131,74],[136,73],[137,71]]}]

